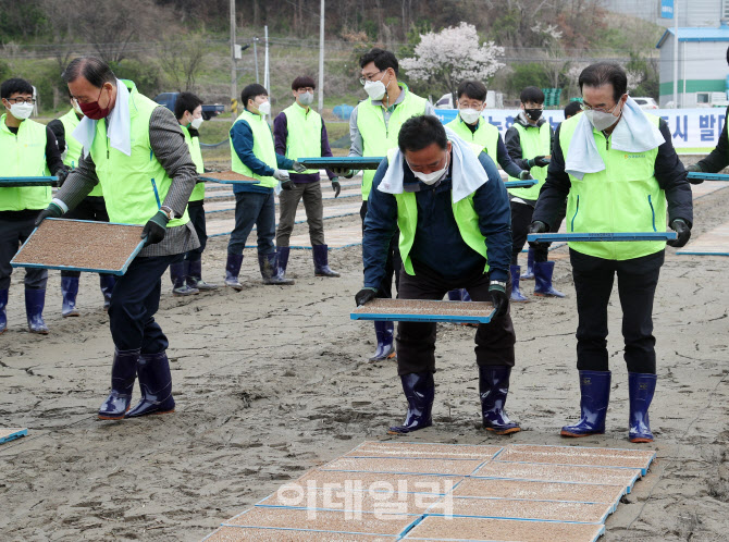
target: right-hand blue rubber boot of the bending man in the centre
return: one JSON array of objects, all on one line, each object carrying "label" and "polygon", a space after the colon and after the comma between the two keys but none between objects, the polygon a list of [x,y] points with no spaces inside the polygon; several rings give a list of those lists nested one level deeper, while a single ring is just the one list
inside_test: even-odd
[{"label": "right-hand blue rubber boot of the bending man in the centre", "polygon": [[521,431],[519,423],[511,421],[504,410],[509,393],[511,368],[505,365],[479,366],[479,395],[483,428],[496,434]]}]

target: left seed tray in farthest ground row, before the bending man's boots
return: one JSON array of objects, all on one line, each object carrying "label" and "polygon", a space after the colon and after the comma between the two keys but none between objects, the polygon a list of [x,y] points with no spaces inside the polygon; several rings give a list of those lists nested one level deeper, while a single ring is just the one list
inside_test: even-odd
[{"label": "left seed tray in farthest ground row, before the bending man's boots", "polygon": [[480,459],[493,458],[502,446],[478,446],[470,444],[431,444],[416,442],[367,441],[344,457],[413,457],[423,459]]}]

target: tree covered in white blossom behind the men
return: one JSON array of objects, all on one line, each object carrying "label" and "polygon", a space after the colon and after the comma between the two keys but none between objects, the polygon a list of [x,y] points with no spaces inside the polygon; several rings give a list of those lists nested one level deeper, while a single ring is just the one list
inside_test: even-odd
[{"label": "tree covered in white blossom behind the men", "polygon": [[437,34],[421,34],[415,54],[413,58],[400,61],[408,76],[450,93],[464,79],[485,82],[504,66],[496,60],[496,57],[504,54],[504,48],[493,41],[479,45],[475,26],[465,22]]}]

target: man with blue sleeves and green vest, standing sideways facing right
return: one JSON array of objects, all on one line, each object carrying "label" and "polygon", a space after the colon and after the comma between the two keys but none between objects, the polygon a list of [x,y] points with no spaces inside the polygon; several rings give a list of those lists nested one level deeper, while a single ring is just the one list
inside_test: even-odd
[{"label": "man with blue sleeves and green vest, standing sideways facing right", "polygon": [[[233,186],[235,227],[227,244],[225,284],[236,291],[243,290],[243,285],[238,282],[243,249],[255,224],[258,236],[258,264],[263,284],[291,285],[294,281],[284,276],[276,262],[276,249],[273,245],[276,208],[273,193],[279,183],[289,181],[286,170],[304,173],[306,168],[276,153],[271,127],[265,122],[265,116],[271,114],[269,91],[262,85],[254,83],[244,88],[240,93],[240,103],[245,109],[230,132],[232,169],[236,173],[256,178],[258,184]],[[289,189],[291,186],[286,185],[285,188]]]}]

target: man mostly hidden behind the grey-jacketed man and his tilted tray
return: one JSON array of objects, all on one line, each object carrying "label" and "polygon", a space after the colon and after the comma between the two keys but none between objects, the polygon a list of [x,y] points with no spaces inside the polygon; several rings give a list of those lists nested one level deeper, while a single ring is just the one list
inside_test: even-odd
[{"label": "man mostly hidden behind the grey-jacketed man and his tilted tray", "polygon": [[[75,169],[83,156],[83,147],[78,139],[72,134],[78,123],[84,118],[81,108],[72,96],[69,97],[71,109],[60,119],[54,119],[48,123],[48,127],[55,134],[59,144],[59,150],[63,158],[63,163],[71,170]],[[103,201],[101,185],[97,184],[88,196],[73,211],[65,214],[66,219],[92,220],[96,222],[109,222],[107,205]],[[61,315],[63,318],[77,317],[76,296],[78,295],[79,271],[61,271],[61,295],[63,301],[61,305]],[[114,275],[99,273],[99,285],[101,295],[103,295],[103,309],[109,310],[111,303],[111,292],[114,290]]]}]

